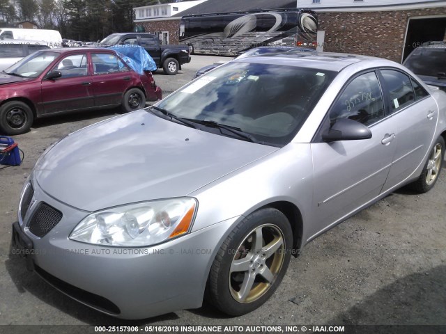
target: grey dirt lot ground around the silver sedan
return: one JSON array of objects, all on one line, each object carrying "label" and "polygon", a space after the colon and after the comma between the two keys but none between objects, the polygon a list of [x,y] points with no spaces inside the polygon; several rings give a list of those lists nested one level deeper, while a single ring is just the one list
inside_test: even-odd
[{"label": "grey dirt lot ground around the silver sedan", "polygon": [[[157,71],[164,96],[222,57],[195,56],[175,77]],[[227,58],[226,58],[227,60]],[[270,301],[229,318],[209,305],[141,321],[119,321],[72,301],[9,255],[11,223],[24,179],[57,139],[114,110],[40,120],[15,136],[22,166],[0,166],[0,324],[444,324],[446,325],[446,170],[433,191],[401,190],[308,244]]]}]

